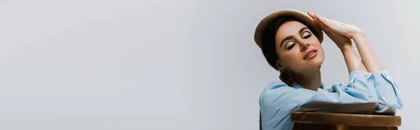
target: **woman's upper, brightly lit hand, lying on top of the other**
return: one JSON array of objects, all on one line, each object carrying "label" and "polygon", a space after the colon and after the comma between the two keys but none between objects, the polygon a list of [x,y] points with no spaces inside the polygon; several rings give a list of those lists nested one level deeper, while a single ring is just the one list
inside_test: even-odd
[{"label": "woman's upper, brightly lit hand, lying on top of the other", "polygon": [[318,22],[318,24],[320,25],[323,24],[324,28],[328,28],[332,31],[335,31],[338,34],[345,36],[346,38],[352,39],[354,38],[354,36],[363,34],[363,31],[361,29],[359,29],[358,27],[354,27],[353,25],[344,24],[342,22],[337,22],[335,20],[329,20],[325,17],[321,17],[309,11],[308,11],[308,15],[311,16],[316,22]]}]

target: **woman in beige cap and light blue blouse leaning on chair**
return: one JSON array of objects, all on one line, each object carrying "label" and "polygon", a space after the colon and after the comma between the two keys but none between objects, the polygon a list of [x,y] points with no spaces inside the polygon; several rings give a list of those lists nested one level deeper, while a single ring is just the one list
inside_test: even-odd
[{"label": "woman in beige cap and light blue blouse leaning on chair", "polygon": [[[344,56],[347,85],[328,88],[321,82],[322,31]],[[309,11],[280,10],[261,20],[254,38],[269,65],[281,72],[260,95],[260,129],[293,129],[293,111],[395,115],[402,109],[397,85],[357,27]]]}]

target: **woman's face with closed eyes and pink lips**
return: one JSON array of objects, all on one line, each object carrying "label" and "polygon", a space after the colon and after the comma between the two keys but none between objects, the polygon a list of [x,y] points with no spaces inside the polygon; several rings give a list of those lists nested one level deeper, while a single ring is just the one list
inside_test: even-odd
[{"label": "woman's face with closed eyes and pink lips", "polygon": [[277,68],[293,73],[304,73],[319,68],[324,52],[318,38],[307,26],[297,21],[285,22],[276,34]]}]

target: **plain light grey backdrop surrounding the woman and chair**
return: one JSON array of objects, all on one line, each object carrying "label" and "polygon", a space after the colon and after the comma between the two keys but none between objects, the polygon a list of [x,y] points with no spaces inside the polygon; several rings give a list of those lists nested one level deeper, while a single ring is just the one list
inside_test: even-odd
[{"label": "plain light grey backdrop surrounding the woman and chair", "polygon": [[[0,0],[0,129],[258,129],[260,92],[278,73],[253,31],[283,8],[363,29],[400,85],[400,129],[416,129],[419,5]],[[335,44],[323,48],[324,84],[347,82]]]}]

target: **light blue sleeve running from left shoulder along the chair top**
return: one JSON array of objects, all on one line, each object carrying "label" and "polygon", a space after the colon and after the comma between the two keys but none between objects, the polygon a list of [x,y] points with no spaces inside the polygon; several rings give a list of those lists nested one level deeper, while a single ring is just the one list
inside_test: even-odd
[{"label": "light blue sleeve running from left shoulder along the chair top", "polygon": [[290,113],[295,110],[370,114],[377,108],[378,96],[369,77],[355,77],[347,85],[337,83],[332,86],[333,92],[295,89],[281,81],[273,82],[260,95],[262,129],[292,129]]}]

